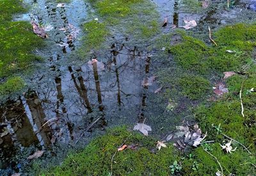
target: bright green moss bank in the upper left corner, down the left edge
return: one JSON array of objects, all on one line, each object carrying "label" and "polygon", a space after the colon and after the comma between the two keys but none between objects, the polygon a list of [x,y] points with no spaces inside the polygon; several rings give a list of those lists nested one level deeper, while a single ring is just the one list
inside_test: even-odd
[{"label": "bright green moss bank in the upper left corner, down the left edge", "polygon": [[6,82],[0,83],[1,95],[20,90],[24,84],[22,78],[15,77],[16,74],[28,69],[32,61],[38,60],[31,53],[42,45],[42,41],[31,31],[31,24],[12,21],[13,14],[24,12],[26,9],[22,6],[22,1],[0,2],[0,77],[7,77]]}]

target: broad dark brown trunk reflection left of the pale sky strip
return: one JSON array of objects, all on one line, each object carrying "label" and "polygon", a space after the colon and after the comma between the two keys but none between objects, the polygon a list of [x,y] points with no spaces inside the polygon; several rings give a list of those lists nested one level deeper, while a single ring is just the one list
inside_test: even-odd
[{"label": "broad dark brown trunk reflection left of the pale sky strip", "polygon": [[17,102],[7,107],[6,118],[11,121],[13,131],[16,134],[17,140],[23,147],[29,147],[31,144],[39,143],[38,138],[33,131],[33,127],[29,122],[28,116],[22,100],[19,99]]}]

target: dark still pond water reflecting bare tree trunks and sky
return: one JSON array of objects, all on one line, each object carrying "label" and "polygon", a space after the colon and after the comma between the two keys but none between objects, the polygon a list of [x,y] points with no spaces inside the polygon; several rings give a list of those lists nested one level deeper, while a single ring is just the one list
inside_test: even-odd
[{"label": "dark still pond water reflecting bare tree trunks and sky", "polygon": [[[218,28],[250,20],[252,15],[248,14],[255,10],[255,1],[236,1],[237,6],[225,12],[187,13],[179,10],[179,2],[154,0],[161,19],[167,18],[170,24],[163,32],[184,26],[184,19],[196,20],[195,30],[204,31],[208,25]],[[65,5],[46,0],[26,3],[31,10],[15,20],[35,20],[47,26],[49,38],[44,49],[35,51],[45,61],[36,65],[33,76],[28,76],[29,91],[0,108],[0,169],[19,171],[22,161],[15,156],[27,147],[51,150],[56,143],[85,145],[106,127],[136,124],[145,118],[149,125],[161,127],[157,120],[150,120],[152,116],[168,115],[166,120],[173,121],[168,125],[182,121],[165,111],[166,102],[163,105],[157,100],[154,92],[159,84],[154,81],[154,70],[159,62],[152,60],[152,53],[119,40],[89,62],[69,61],[81,45],[81,24],[92,10],[84,0]],[[180,105],[179,110],[185,106]]]}]

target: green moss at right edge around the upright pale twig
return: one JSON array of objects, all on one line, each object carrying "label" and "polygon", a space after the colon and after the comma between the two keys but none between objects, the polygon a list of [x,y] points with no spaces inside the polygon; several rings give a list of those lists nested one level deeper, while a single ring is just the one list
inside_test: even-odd
[{"label": "green moss at right edge around the upright pale twig", "polygon": [[[244,117],[241,115],[239,98],[242,83]],[[220,133],[216,135],[218,132],[212,127],[212,124],[220,125],[224,134],[255,150],[253,139],[256,138],[256,93],[250,92],[256,86],[255,65],[248,70],[248,76],[232,76],[228,78],[227,84],[230,93],[214,102],[209,108],[202,106],[197,109],[196,118],[204,131],[209,131],[210,138],[221,139],[223,137]]]}]

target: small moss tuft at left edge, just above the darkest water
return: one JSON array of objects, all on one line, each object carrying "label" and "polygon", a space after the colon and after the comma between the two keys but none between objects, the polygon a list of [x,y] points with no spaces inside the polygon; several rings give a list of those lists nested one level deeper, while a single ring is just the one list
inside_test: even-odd
[{"label": "small moss tuft at left edge, just above the darkest water", "polygon": [[0,84],[0,97],[3,95],[8,95],[12,92],[18,92],[22,90],[24,86],[25,83],[21,77],[9,78],[8,81]]}]

